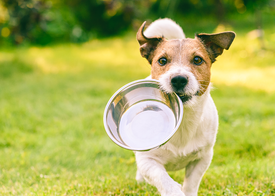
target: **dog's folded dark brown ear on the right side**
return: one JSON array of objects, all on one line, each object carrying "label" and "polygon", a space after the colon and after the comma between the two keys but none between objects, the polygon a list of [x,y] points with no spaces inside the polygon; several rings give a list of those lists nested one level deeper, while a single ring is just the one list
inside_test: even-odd
[{"label": "dog's folded dark brown ear on the right side", "polygon": [[215,62],[215,58],[222,54],[223,50],[228,50],[232,44],[236,34],[232,31],[217,33],[217,34],[199,34],[197,38],[204,43],[208,53],[210,53],[210,59]]}]

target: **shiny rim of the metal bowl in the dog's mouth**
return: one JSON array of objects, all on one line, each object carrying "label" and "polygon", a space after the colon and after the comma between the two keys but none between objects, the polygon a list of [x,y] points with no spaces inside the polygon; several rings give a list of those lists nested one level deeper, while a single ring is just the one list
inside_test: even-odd
[{"label": "shiny rim of the metal bowl in the dog's mouth", "polygon": [[178,123],[177,125],[175,126],[174,130],[171,132],[171,134],[166,138],[164,139],[163,141],[159,142],[158,144],[155,144],[151,147],[147,147],[147,148],[132,148],[132,147],[129,147],[129,146],[126,146],[126,145],[123,145],[121,144],[120,142],[118,142],[113,136],[112,134],[110,133],[109,129],[108,129],[108,125],[107,125],[107,112],[109,111],[109,108],[110,108],[110,105],[111,103],[114,101],[114,98],[125,88],[127,87],[130,87],[132,86],[133,84],[138,84],[138,83],[141,83],[141,82],[154,82],[154,83],[157,83],[157,84],[160,84],[160,81],[159,80],[156,80],[156,79],[140,79],[140,80],[136,80],[136,81],[133,81],[133,82],[130,82],[126,85],[124,85],[123,87],[121,87],[119,90],[117,90],[114,95],[112,95],[112,97],[109,99],[106,107],[105,107],[105,110],[104,110],[104,115],[103,115],[103,123],[104,123],[104,128],[105,128],[105,131],[106,133],[108,134],[109,138],[114,142],[116,143],[118,146],[122,147],[122,148],[125,148],[127,150],[133,150],[133,151],[149,151],[149,150],[155,150],[161,146],[163,146],[166,142],[169,141],[169,139],[175,134],[175,132],[178,130],[178,127],[180,126],[181,122],[182,122],[182,117],[183,117],[183,103],[182,103],[182,100],[180,99],[180,97],[175,93],[173,92],[172,94],[174,94],[176,96],[176,98],[178,99],[178,102],[180,104],[180,115],[179,115],[179,119],[178,119]]}]

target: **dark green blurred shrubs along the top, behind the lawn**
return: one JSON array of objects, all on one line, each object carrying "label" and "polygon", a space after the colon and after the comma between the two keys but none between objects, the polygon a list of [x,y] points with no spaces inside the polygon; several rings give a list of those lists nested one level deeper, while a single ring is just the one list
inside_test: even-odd
[{"label": "dark green blurred shrubs along the top, behind the lawn", "polygon": [[0,44],[86,42],[164,17],[187,35],[217,24],[248,32],[274,26],[274,15],[274,0],[0,0]]}]

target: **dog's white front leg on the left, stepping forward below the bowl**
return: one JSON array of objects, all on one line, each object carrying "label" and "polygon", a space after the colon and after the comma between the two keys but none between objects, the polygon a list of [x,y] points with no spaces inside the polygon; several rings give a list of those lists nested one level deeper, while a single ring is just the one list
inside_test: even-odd
[{"label": "dog's white front leg on the left, stepping forward below the bowl", "polygon": [[161,196],[185,196],[182,185],[175,182],[163,165],[156,160],[136,153],[138,170],[148,183],[154,185]]}]

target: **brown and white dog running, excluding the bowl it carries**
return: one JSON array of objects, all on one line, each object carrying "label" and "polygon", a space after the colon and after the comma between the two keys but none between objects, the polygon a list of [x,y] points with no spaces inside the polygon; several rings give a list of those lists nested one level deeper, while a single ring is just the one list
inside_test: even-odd
[{"label": "brown and white dog running, excluding the bowl it carries", "polygon": [[[218,112],[209,93],[210,68],[215,58],[229,49],[235,33],[185,38],[182,28],[168,18],[156,20],[145,32],[144,26],[145,22],[137,34],[141,56],[151,64],[151,77],[160,81],[161,90],[180,96],[183,118],[165,145],[153,151],[135,152],[136,180],[145,179],[162,196],[196,196],[211,163],[218,130]],[[166,172],[183,168],[183,185]]]}]

